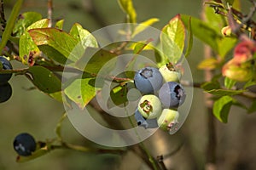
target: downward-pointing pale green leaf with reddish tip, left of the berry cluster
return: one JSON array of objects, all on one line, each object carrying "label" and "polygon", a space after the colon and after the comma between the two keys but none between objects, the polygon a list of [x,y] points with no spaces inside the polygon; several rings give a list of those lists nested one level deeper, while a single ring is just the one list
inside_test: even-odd
[{"label": "downward-pointing pale green leaf with reddish tip, left of the berry cluster", "polygon": [[95,77],[75,79],[65,88],[64,93],[83,110],[90,100],[96,96],[97,90],[100,89],[95,88],[95,81]]}]

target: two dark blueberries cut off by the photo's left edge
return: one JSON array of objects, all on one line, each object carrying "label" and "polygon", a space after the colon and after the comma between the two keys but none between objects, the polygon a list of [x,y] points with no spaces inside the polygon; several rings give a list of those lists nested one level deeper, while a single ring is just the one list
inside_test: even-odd
[{"label": "two dark blueberries cut off by the photo's left edge", "polygon": [[[9,60],[0,56],[0,71],[1,70],[12,70],[13,67]],[[7,101],[12,95],[12,88],[9,84],[9,79],[12,74],[0,74],[0,103]]]}]

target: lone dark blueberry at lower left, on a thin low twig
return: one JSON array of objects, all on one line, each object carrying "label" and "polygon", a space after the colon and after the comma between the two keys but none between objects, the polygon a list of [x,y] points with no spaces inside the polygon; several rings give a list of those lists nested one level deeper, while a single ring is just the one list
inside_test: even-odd
[{"label": "lone dark blueberry at lower left, on a thin low twig", "polygon": [[20,156],[31,156],[37,148],[37,143],[31,134],[20,133],[15,137],[14,148]]}]

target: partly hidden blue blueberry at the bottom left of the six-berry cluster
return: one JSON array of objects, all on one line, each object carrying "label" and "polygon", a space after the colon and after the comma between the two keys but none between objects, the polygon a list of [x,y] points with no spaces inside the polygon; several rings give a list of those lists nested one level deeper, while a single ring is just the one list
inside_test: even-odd
[{"label": "partly hidden blue blueberry at the bottom left of the six-berry cluster", "polygon": [[154,119],[145,119],[142,114],[136,110],[134,117],[137,121],[137,125],[144,128],[155,128],[158,127],[156,118]]}]

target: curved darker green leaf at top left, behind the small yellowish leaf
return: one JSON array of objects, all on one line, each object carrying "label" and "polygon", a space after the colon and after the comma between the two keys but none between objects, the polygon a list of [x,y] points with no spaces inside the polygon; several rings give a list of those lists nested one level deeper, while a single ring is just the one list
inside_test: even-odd
[{"label": "curved darker green leaf at top left, behind the small yellowish leaf", "polygon": [[14,35],[15,37],[20,37],[25,33],[28,26],[31,26],[34,22],[42,19],[42,15],[36,12],[26,12],[20,14],[20,19],[15,24]]}]

